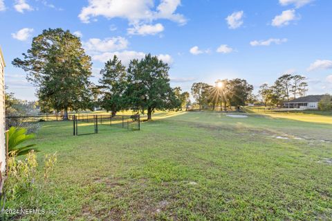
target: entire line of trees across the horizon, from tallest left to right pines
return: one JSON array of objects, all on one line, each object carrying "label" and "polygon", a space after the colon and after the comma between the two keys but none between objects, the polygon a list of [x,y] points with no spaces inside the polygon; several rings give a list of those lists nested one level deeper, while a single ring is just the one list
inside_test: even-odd
[{"label": "entire line of trees across the horizon, from tallest left to right pines", "polygon": [[[63,111],[64,119],[68,119],[68,111],[100,106],[113,115],[127,109],[147,113],[150,120],[156,109],[187,110],[192,105],[187,91],[170,87],[169,65],[150,54],[131,60],[128,67],[114,56],[104,64],[102,77],[94,85],[91,58],[80,38],[61,28],[34,37],[23,58],[15,58],[12,64],[27,72],[28,81],[37,88],[42,111]],[[285,74],[272,86],[261,85],[259,94],[266,105],[278,105],[304,96],[307,87],[303,76]],[[256,99],[252,91],[246,80],[235,78],[216,80],[215,85],[195,82],[191,95],[199,109],[220,106],[222,110],[252,102]]]}]

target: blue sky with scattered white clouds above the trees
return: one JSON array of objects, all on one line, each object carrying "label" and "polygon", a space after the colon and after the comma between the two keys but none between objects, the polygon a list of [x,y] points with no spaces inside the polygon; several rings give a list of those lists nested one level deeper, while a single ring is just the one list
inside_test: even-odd
[{"label": "blue sky with scattered white clouds above the trees", "polygon": [[82,40],[98,82],[104,62],[146,53],[169,63],[172,87],[244,78],[259,89],[284,73],[306,76],[308,94],[332,93],[331,0],[0,0],[6,85],[36,100],[12,66],[33,37],[63,28]]}]

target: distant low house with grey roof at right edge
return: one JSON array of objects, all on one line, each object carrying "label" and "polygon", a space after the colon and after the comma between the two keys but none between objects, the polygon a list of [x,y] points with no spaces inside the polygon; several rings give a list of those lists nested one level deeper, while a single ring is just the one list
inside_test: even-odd
[{"label": "distant low house with grey roof at right edge", "polygon": [[323,95],[309,95],[284,103],[286,109],[318,109],[318,102]]}]

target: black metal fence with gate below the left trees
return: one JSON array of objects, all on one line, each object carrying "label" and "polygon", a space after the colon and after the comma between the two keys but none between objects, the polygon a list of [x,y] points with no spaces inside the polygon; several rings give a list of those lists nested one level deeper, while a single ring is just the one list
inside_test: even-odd
[{"label": "black metal fence with gate below the left trees", "polygon": [[[44,134],[97,134],[107,132],[111,127],[140,130],[140,115],[70,114],[44,116],[6,116],[6,130],[9,127],[25,127],[28,132]],[[39,130],[43,128],[43,130]],[[98,130],[100,129],[100,130]]]}]

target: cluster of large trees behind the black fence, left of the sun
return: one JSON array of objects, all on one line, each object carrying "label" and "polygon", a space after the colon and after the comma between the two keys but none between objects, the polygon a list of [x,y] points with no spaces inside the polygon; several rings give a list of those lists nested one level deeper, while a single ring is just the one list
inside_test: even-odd
[{"label": "cluster of large trees behind the black fence, left of the sun", "polygon": [[86,55],[79,37],[61,28],[44,30],[33,38],[23,59],[12,64],[27,72],[27,79],[37,88],[43,112],[93,109],[100,105],[113,115],[120,110],[147,112],[177,109],[188,100],[187,94],[176,96],[169,85],[169,66],[156,56],[131,60],[129,67],[114,56],[100,71],[98,85],[90,82],[91,58]]}]

